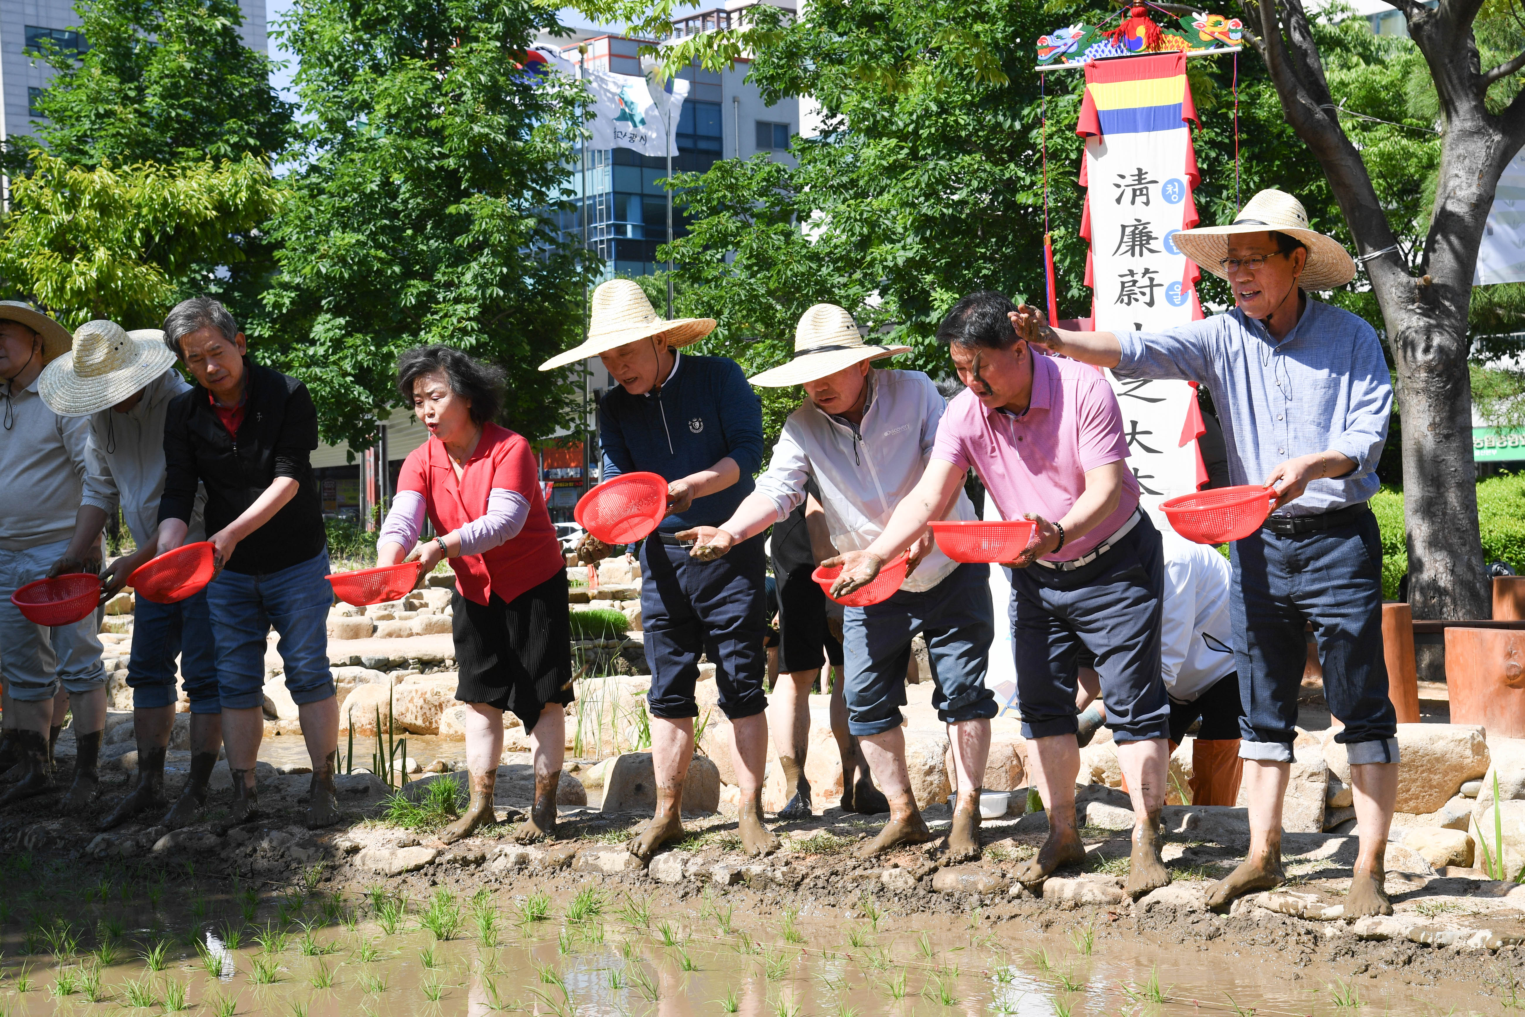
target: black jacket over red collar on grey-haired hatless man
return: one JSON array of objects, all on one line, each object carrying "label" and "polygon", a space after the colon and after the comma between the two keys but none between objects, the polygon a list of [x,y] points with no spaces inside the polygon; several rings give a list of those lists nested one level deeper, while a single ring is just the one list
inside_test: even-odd
[{"label": "black jacket over red collar on grey-haired hatless man", "polygon": [[159,521],[191,521],[197,482],[206,485],[206,532],[217,534],[244,514],[276,477],[297,492],[268,523],[249,534],[227,567],[268,575],[310,561],[323,550],[322,502],[313,477],[317,410],[307,386],[244,358],[246,404],[238,435],[212,412],[210,393],[192,386],[169,401],[165,418],[165,496]]}]

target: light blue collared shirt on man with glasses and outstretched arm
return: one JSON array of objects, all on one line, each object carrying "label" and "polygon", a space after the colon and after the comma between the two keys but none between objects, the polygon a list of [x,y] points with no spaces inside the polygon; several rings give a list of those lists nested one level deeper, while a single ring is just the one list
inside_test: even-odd
[{"label": "light blue collared shirt on man with glasses and outstretched arm", "polygon": [[[1118,332],[1119,380],[1182,378],[1212,392],[1234,483],[1263,483],[1279,464],[1333,450],[1356,468],[1313,480],[1278,515],[1316,515],[1377,492],[1392,380],[1376,329],[1313,297],[1281,340],[1234,308],[1161,332]],[[1124,393],[1127,395],[1127,393]]]}]

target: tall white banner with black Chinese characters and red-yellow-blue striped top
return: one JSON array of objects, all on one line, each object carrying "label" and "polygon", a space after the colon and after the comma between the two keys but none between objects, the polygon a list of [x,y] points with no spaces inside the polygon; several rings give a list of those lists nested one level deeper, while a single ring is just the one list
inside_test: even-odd
[{"label": "tall white banner with black Chinese characters and red-yellow-blue striped top", "polygon": [[[1086,284],[1098,331],[1153,331],[1202,317],[1200,270],[1171,242],[1197,224],[1191,192],[1197,157],[1186,122],[1197,111],[1183,53],[1118,56],[1086,64],[1075,131],[1086,139],[1080,186],[1090,241]],[[1202,415],[1185,381],[1118,381],[1128,467],[1145,509],[1206,480],[1197,436]]]}]

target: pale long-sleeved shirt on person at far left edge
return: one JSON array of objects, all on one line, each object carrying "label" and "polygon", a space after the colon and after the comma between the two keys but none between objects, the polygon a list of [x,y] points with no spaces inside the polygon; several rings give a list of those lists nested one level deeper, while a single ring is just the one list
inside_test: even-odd
[{"label": "pale long-sleeved shirt on person at far left edge", "polygon": [[47,409],[35,378],[24,389],[0,384],[11,401],[11,425],[0,430],[0,549],[69,540],[81,505],[104,512],[114,506],[85,448],[90,421]]}]

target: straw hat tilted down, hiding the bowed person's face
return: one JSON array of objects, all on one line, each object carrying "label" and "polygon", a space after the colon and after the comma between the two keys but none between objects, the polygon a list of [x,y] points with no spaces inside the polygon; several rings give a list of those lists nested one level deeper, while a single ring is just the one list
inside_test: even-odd
[{"label": "straw hat tilted down, hiding the bowed person's face", "polygon": [[85,322],[75,331],[75,348],[43,367],[37,393],[59,416],[88,416],[128,398],[174,361],[157,328],[127,332],[116,322]]}]

